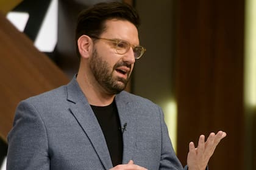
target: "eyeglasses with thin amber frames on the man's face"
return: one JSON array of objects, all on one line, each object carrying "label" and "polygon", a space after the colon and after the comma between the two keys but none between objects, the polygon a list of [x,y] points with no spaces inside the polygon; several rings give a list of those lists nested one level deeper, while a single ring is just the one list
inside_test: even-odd
[{"label": "eyeglasses with thin amber frames on the man's face", "polygon": [[143,55],[144,52],[146,52],[146,49],[142,46],[134,46],[130,44],[130,42],[122,40],[122,39],[108,39],[108,38],[101,38],[97,36],[91,36],[91,38],[96,38],[96,39],[103,39],[105,41],[112,42],[113,45],[115,46],[116,53],[118,54],[125,54],[129,51],[130,47],[132,47],[133,53],[134,53],[134,58],[139,59]]}]

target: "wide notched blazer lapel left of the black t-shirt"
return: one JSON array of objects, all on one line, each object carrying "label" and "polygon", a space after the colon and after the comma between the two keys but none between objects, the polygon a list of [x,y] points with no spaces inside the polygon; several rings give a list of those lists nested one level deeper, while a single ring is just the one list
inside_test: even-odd
[{"label": "wide notched blazer lapel left of the black t-shirt", "polygon": [[87,134],[104,168],[112,168],[112,160],[108,152],[104,134],[101,131],[101,127],[90,104],[88,104],[87,98],[85,98],[75,78],[67,86],[67,95],[67,100],[73,103],[69,108],[70,112],[74,115],[85,134]]}]

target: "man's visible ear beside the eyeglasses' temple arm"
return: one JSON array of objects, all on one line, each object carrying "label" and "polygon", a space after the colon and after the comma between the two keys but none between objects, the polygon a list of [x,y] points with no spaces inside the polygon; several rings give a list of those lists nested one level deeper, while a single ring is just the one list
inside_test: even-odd
[{"label": "man's visible ear beside the eyeglasses' temple arm", "polygon": [[91,55],[92,46],[93,41],[91,40],[90,36],[81,35],[79,39],[77,39],[77,47],[82,58],[89,58]]}]

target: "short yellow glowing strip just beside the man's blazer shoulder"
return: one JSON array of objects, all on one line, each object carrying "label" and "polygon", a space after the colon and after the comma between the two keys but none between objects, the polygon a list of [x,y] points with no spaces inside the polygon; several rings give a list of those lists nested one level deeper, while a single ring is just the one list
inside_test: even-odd
[{"label": "short yellow glowing strip just beside the man's blazer shoulder", "polygon": [[176,101],[170,100],[163,107],[165,112],[165,122],[168,127],[169,137],[171,138],[174,151],[177,148],[177,104]]}]

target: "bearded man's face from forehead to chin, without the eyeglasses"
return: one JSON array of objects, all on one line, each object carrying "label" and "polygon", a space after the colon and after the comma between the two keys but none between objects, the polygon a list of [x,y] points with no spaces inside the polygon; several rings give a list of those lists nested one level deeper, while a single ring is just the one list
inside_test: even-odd
[{"label": "bearded man's face from forehead to chin, without the eyeglasses", "polygon": [[[99,36],[107,39],[122,39],[138,45],[138,31],[129,21],[112,19],[105,22],[106,30]],[[135,63],[133,50],[116,53],[115,43],[98,39],[94,44],[90,69],[99,85],[108,94],[118,94],[126,88]]]}]

